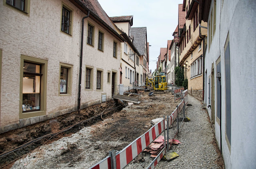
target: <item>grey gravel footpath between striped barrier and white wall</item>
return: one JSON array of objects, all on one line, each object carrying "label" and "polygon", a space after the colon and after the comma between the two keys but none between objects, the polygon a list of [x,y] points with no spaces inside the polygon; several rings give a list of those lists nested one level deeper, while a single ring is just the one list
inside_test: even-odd
[{"label": "grey gravel footpath between striped barrier and white wall", "polygon": [[188,95],[188,103],[192,106],[186,107],[186,116],[190,122],[183,122],[177,139],[180,145],[174,145],[172,150],[179,157],[166,162],[161,160],[155,169],[220,169],[218,165],[219,156],[213,145],[214,132],[208,121],[208,114],[202,109],[201,102]]}]

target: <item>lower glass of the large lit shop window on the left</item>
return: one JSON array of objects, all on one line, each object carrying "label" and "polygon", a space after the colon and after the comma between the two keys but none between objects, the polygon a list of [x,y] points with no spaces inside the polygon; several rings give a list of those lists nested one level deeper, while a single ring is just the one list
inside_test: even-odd
[{"label": "lower glass of the large lit shop window on the left", "polygon": [[40,110],[40,76],[23,75],[22,111]]}]

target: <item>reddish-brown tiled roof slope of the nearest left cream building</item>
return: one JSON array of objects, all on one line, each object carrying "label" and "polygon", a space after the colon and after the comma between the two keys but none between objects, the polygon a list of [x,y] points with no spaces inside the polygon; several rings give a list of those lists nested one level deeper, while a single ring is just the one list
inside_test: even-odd
[{"label": "reddish-brown tiled roof slope of the nearest left cream building", "polygon": [[98,0],[79,0],[88,8],[90,11],[92,11],[96,16],[98,16],[100,19],[102,19],[110,28],[112,28],[114,31],[116,29],[113,26],[113,22],[110,20],[106,12],[102,9],[100,6],[100,3]]}]

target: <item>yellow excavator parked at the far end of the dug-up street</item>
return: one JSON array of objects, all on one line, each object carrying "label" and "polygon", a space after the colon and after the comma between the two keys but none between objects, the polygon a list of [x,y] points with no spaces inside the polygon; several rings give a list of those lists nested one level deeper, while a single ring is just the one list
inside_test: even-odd
[{"label": "yellow excavator parked at the far end of the dug-up street", "polygon": [[154,90],[167,90],[166,76],[155,76],[153,79],[146,79],[146,86],[149,86],[149,83],[152,84]]}]

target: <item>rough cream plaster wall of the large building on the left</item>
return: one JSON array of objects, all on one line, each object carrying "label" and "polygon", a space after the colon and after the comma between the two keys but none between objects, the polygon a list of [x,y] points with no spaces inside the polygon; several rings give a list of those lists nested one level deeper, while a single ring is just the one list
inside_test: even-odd
[{"label": "rough cream plaster wall of the large building on the left", "polygon": [[[72,36],[60,31],[62,2],[74,10]],[[44,8],[42,8],[44,6]],[[1,122],[0,126],[15,124],[19,120],[20,97],[20,55],[45,59],[47,67],[46,114],[72,108],[77,104],[78,67],[80,57],[81,22],[85,16],[68,0],[30,1],[29,16],[0,2],[0,48],[2,49],[2,84],[1,84]],[[97,45],[86,44],[87,20],[95,24],[95,44],[98,40],[98,28],[104,31],[104,52],[98,51]],[[90,18],[85,20],[84,58],[82,72],[81,104],[101,99],[101,93],[111,96],[111,85],[106,85],[106,72],[118,71],[120,65],[120,41],[118,58],[113,58],[113,40],[105,29]],[[73,65],[71,96],[59,96],[58,78],[60,62]],[[102,92],[84,91],[85,64],[104,69],[104,87]],[[94,76],[96,72],[94,72]],[[119,73],[117,75],[119,77]],[[119,78],[117,78],[119,83]],[[96,88],[96,78],[94,87]]]}]

